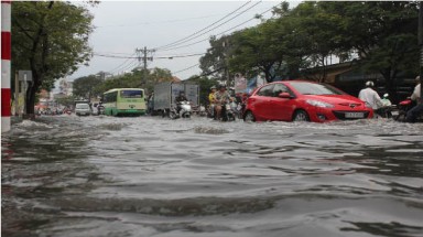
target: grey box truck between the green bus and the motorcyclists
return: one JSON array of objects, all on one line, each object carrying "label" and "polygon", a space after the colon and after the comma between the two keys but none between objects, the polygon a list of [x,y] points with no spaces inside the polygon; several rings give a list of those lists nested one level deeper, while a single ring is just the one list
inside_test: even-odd
[{"label": "grey box truck between the green bus and the motorcyclists", "polygon": [[184,91],[189,100],[192,108],[199,106],[199,86],[185,83],[160,83],[154,86],[153,112],[165,116],[171,116],[171,111],[176,108],[175,98]]}]

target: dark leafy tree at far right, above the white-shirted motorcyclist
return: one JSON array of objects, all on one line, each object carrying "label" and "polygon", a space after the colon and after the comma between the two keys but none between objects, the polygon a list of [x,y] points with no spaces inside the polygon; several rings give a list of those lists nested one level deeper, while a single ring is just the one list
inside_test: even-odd
[{"label": "dark leafy tree at far right, above the white-shirted motorcyclist", "polygon": [[338,15],[333,37],[344,52],[356,52],[362,68],[379,72],[388,93],[395,97],[400,72],[419,72],[419,2],[319,2],[325,12]]}]

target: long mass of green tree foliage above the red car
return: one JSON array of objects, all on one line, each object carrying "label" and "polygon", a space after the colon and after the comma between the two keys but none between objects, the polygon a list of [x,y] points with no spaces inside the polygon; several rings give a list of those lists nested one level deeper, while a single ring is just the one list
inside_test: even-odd
[{"label": "long mass of green tree foliage above the red car", "polygon": [[[283,2],[273,9],[272,19],[210,39],[200,67],[209,73],[229,65],[231,73],[264,73],[268,82],[276,75],[296,78],[304,68],[318,67],[315,79],[324,82],[329,57],[357,58],[366,72],[383,75],[390,90],[400,72],[419,72],[417,6],[415,1],[305,1],[290,9]],[[223,42],[229,43],[229,50]]]}]

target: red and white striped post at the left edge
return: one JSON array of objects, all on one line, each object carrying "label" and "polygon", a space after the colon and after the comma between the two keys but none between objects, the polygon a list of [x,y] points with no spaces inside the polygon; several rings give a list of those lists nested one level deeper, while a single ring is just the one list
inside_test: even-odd
[{"label": "red and white striped post at the left edge", "polygon": [[11,1],[1,1],[1,132],[10,130]]}]

